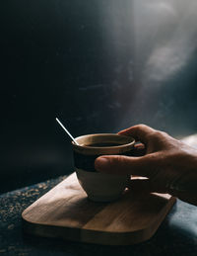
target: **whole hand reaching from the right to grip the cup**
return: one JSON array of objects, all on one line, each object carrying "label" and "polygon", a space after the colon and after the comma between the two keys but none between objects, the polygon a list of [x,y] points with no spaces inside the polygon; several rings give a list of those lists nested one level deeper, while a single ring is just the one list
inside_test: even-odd
[{"label": "whole hand reaching from the right to grip the cup", "polygon": [[95,162],[98,171],[146,177],[148,179],[131,180],[129,187],[135,191],[168,193],[197,206],[197,149],[145,125],[118,133],[141,141],[145,155],[100,156]]}]

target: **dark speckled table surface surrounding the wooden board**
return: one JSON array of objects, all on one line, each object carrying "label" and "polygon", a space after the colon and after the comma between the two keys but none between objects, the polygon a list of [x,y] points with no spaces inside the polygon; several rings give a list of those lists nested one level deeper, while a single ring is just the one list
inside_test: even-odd
[{"label": "dark speckled table surface surrounding the wooden board", "polygon": [[156,234],[129,246],[106,246],[23,232],[21,213],[65,177],[0,196],[0,254],[2,255],[197,255],[197,207],[177,201]]}]

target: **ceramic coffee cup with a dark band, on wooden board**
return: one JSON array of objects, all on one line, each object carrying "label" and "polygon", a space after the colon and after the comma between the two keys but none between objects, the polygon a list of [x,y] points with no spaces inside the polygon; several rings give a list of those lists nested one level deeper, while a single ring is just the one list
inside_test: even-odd
[{"label": "ceramic coffee cup with a dark band, on wooden board", "polygon": [[90,200],[110,202],[119,199],[130,179],[129,175],[111,175],[95,169],[95,160],[100,155],[132,155],[135,140],[132,137],[114,134],[88,134],[72,142],[74,164],[80,185]]}]

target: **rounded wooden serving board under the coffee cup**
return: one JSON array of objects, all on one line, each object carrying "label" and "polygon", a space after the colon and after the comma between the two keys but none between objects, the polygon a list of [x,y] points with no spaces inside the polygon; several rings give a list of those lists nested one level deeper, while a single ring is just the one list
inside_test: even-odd
[{"label": "rounded wooden serving board under the coffee cup", "polygon": [[22,213],[24,230],[35,235],[108,245],[152,237],[175,202],[167,194],[136,195],[113,203],[88,200],[73,173]]}]

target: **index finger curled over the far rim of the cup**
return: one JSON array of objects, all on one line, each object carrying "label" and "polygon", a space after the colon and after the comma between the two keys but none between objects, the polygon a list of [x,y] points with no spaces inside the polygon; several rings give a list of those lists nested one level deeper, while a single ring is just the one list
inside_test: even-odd
[{"label": "index finger curled over the far rim of the cup", "polygon": [[156,131],[156,129],[145,125],[138,125],[121,130],[118,134],[133,136],[137,141],[147,144],[149,141],[149,135],[154,131]]}]

